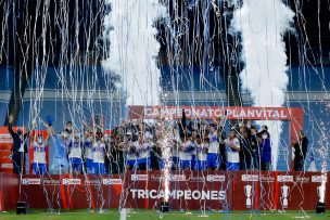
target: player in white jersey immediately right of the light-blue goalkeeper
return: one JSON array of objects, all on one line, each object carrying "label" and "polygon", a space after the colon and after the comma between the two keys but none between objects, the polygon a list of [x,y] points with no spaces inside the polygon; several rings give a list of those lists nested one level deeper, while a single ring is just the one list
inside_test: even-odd
[{"label": "player in white jersey immediately right of the light-blue goalkeeper", "polygon": [[82,166],[82,141],[79,132],[74,132],[68,142],[68,161],[71,173],[79,174]]}]

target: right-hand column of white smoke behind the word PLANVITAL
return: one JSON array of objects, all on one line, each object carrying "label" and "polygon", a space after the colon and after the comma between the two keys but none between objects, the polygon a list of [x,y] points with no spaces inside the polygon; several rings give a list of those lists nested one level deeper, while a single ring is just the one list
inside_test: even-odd
[{"label": "right-hand column of white smoke behind the word PLANVITAL", "polygon": [[[280,107],[285,101],[288,66],[283,35],[292,29],[294,13],[281,0],[243,0],[233,13],[231,26],[242,37],[245,68],[240,75],[242,89],[251,93],[253,105]],[[281,121],[267,125],[272,142],[272,168],[276,170]]]}]

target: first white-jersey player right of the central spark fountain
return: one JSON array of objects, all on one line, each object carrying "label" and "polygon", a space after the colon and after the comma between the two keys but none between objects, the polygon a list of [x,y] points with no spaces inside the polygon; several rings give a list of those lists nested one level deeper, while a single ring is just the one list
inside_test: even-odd
[{"label": "first white-jersey player right of the central spark fountain", "polygon": [[[189,137],[191,138],[191,137]],[[191,168],[191,158],[192,158],[192,150],[193,144],[185,134],[181,135],[181,145],[179,151],[180,156],[180,169],[188,170]]]}]

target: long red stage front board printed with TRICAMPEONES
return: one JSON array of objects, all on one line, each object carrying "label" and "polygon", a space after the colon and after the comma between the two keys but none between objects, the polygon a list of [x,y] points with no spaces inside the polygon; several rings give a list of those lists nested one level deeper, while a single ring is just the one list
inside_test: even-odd
[{"label": "long red stage front board printed with TRICAMPEONES", "polygon": [[[194,210],[315,210],[325,193],[330,208],[327,174],[320,172],[174,171],[169,178],[172,209]],[[20,184],[21,183],[21,184]],[[0,210],[17,200],[28,208],[160,208],[164,184],[160,171],[125,176],[0,174]],[[20,195],[21,191],[21,195]]]}]

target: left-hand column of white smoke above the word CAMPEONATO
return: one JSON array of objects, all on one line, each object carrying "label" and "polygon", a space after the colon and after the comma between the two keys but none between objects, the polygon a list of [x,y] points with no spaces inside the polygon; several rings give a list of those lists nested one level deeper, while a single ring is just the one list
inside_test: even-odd
[{"label": "left-hand column of white smoke above the word CAMPEONATO", "polygon": [[103,68],[122,78],[127,105],[157,105],[161,73],[160,43],[155,22],[166,16],[158,0],[107,0],[111,12],[104,18],[110,42]]}]

